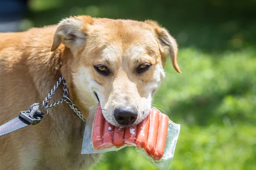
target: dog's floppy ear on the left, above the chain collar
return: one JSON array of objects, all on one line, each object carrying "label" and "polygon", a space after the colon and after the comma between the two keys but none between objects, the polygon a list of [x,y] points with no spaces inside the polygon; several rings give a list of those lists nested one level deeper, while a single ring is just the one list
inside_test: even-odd
[{"label": "dog's floppy ear on the left, above the chain collar", "polygon": [[86,39],[86,27],[91,22],[87,22],[87,20],[93,19],[87,16],[80,16],[62,20],[53,36],[51,51],[56,50],[62,42],[67,48],[70,48],[73,54],[76,53]]}]

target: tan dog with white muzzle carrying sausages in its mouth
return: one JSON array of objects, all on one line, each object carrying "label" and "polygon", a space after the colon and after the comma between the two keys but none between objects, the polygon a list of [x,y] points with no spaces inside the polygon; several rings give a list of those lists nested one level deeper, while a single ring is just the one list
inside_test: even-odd
[{"label": "tan dog with white muzzle carrying sausages in its mouth", "polygon": [[[165,77],[177,45],[153,21],[70,17],[58,26],[0,34],[0,125],[42,102],[58,78],[86,118],[97,98],[115,126],[141,122]],[[61,88],[52,101],[61,99]],[[99,154],[81,155],[85,123],[66,103],[38,125],[0,137],[2,170],[84,170]]]}]

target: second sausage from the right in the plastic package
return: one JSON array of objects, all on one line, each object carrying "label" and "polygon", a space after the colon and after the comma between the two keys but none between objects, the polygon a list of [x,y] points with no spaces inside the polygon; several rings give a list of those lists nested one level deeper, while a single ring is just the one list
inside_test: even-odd
[{"label": "second sausage from the right in the plastic package", "polygon": [[157,131],[159,125],[159,114],[160,112],[154,108],[151,109],[150,113],[150,124],[148,130],[148,142],[145,147],[145,151],[148,155],[152,155],[155,151],[157,144]]}]

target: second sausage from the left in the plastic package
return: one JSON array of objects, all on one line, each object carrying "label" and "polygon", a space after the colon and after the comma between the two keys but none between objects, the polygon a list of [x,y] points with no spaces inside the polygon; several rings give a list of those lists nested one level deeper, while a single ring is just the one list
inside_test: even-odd
[{"label": "second sausage from the left in the plastic package", "polygon": [[108,121],[106,121],[105,119],[104,128],[103,128],[104,149],[113,147],[113,130],[114,130],[114,126],[108,123]]}]

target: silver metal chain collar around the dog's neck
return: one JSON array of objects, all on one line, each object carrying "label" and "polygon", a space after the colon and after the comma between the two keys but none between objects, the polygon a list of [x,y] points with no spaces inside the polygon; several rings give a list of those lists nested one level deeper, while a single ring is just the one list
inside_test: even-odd
[{"label": "silver metal chain collar around the dog's neck", "polygon": [[[62,99],[53,102],[52,104],[49,104],[50,99],[52,99],[52,96],[55,94],[55,91],[57,90],[58,86],[61,84],[61,82],[63,83],[63,97]],[[51,90],[51,92],[48,94],[48,96],[44,99],[43,103],[40,104],[42,106],[42,108],[44,108],[44,110],[47,112],[44,116],[46,116],[49,113],[49,110],[59,104],[61,104],[62,102],[66,102],[70,108],[76,113],[77,116],[80,117],[80,119],[82,119],[84,122],[86,122],[86,120],[84,119],[84,116],[82,115],[81,111],[79,111],[79,109],[77,108],[77,106],[72,102],[72,100],[68,97],[68,91],[67,91],[67,82],[64,80],[64,77],[60,77],[59,80],[57,81],[57,84],[54,85],[53,89]]]}]

